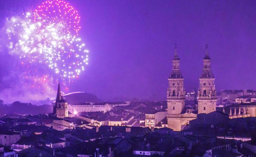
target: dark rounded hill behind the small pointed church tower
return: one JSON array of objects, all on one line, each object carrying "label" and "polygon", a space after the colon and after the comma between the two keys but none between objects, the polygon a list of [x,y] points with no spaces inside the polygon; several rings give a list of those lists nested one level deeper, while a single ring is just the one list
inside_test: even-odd
[{"label": "dark rounded hill behind the small pointed church tower", "polygon": [[77,104],[82,102],[103,102],[97,96],[86,92],[73,92],[63,96],[69,104]]}]

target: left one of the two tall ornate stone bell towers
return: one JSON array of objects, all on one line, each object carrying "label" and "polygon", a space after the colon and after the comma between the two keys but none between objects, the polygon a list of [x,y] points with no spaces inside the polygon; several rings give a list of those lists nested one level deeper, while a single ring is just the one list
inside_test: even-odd
[{"label": "left one of the two tall ornate stone bell towers", "polygon": [[173,67],[168,78],[169,86],[167,89],[167,119],[169,128],[180,130],[180,121],[176,120],[176,116],[181,114],[185,107],[185,88],[184,78],[179,70],[180,59],[178,58],[176,47],[172,62]]}]

